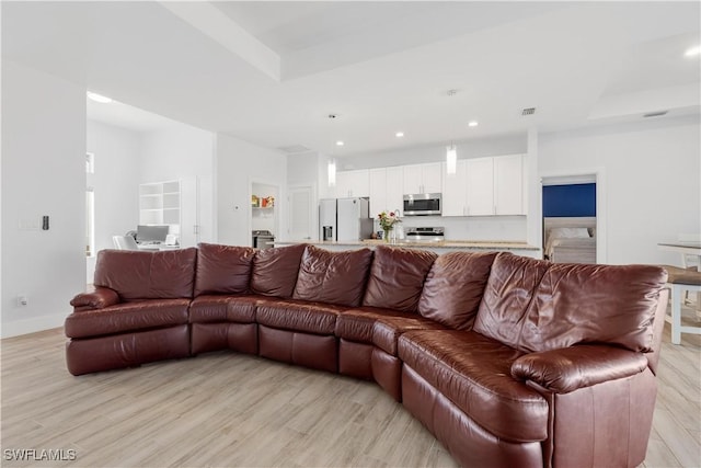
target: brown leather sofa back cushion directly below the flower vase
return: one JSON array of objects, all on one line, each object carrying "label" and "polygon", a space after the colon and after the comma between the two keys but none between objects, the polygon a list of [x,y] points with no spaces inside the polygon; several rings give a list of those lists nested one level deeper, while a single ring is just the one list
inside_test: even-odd
[{"label": "brown leather sofa back cushion directly below the flower vase", "polygon": [[424,281],[437,256],[425,250],[378,246],[363,305],[417,312]]}]

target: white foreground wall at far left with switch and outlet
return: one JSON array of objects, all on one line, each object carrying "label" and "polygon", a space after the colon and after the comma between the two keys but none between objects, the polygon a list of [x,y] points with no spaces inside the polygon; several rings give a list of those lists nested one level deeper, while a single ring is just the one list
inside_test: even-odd
[{"label": "white foreground wall at far left with switch and outlet", "polygon": [[84,88],[2,60],[1,190],[2,336],[59,327],[85,287]]}]

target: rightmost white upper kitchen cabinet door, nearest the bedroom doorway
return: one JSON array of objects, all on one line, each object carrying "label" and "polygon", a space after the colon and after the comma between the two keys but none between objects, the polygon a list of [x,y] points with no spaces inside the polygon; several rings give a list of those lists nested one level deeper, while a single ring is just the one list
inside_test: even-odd
[{"label": "rightmost white upper kitchen cabinet door, nearest the bedroom doorway", "polygon": [[494,158],[494,214],[525,215],[524,157]]}]

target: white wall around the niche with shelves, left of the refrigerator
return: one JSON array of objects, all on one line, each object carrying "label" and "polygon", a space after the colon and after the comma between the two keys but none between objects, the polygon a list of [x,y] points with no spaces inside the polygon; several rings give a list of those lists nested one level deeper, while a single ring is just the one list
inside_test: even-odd
[{"label": "white wall around the niche with shelves, left of the refrigerator", "polygon": [[[218,242],[250,246],[251,183],[276,185],[286,194],[287,157],[277,150],[217,134],[216,164]],[[286,204],[280,203],[276,207],[280,237],[287,231],[286,213]]]}]

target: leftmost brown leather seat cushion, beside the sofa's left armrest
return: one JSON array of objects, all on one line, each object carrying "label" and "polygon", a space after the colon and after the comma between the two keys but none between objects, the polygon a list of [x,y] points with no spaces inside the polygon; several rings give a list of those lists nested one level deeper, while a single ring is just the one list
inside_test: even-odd
[{"label": "leftmost brown leather seat cushion, beside the sofa's left armrest", "polygon": [[189,299],[152,299],[82,310],[66,318],[68,338],[92,338],[187,323]]}]

